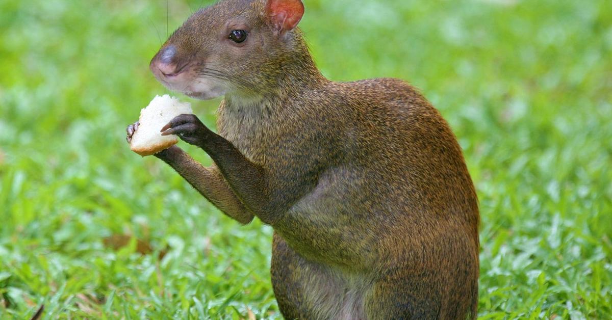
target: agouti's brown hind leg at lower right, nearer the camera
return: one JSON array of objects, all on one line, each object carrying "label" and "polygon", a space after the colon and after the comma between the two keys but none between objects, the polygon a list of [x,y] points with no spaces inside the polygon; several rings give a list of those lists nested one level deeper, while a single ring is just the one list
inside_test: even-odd
[{"label": "agouti's brown hind leg at lower right, nearer the camera", "polygon": [[368,319],[476,319],[478,256],[466,237],[438,237],[417,259],[384,270],[367,297]]}]

